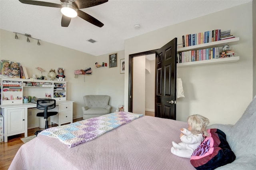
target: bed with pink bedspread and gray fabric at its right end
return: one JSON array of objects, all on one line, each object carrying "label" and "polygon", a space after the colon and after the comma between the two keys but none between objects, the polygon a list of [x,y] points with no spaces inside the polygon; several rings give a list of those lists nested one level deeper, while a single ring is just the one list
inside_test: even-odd
[{"label": "bed with pink bedspread and gray fabric at its right end", "polygon": [[[218,170],[251,170],[256,167],[256,99],[235,125],[211,125],[227,135],[236,160]],[[57,138],[39,135],[23,144],[10,170],[193,170],[188,158],[170,152],[172,141],[179,142],[186,122],[143,116],[114,128],[88,142],[69,148]]]}]

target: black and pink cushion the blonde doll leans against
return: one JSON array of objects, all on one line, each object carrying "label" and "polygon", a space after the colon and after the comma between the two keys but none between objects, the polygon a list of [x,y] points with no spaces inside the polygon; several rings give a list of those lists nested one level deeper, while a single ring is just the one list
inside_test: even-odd
[{"label": "black and pink cushion the blonde doll leans against", "polygon": [[216,128],[207,132],[209,136],[192,153],[191,164],[197,170],[213,170],[233,162],[236,156],[226,140],[226,134]]}]

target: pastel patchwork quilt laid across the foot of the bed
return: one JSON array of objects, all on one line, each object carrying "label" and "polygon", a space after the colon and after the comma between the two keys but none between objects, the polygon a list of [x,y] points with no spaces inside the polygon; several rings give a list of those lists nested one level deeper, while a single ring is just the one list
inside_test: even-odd
[{"label": "pastel patchwork quilt laid across the foot of the bed", "polygon": [[129,123],[142,116],[142,114],[120,111],[68,125],[48,128],[38,135],[58,138],[61,142],[67,144],[68,147],[71,148],[97,138],[114,128]]}]

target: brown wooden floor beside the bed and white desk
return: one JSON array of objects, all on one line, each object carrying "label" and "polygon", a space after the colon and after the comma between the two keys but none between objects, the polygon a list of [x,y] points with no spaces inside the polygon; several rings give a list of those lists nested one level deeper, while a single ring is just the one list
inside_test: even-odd
[{"label": "brown wooden floor beside the bed and white desk", "polygon": [[[82,121],[82,118],[74,119],[73,122]],[[57,124],[49,125],[49,127],[56,127]],[[36,130],[43,130],[44,128],[32,128],[28,129],[28,136],[34,135]],[[0,170],[8,170],[12,159],[14,158],[16,152],[20,148],[22,144],[22,140],[20,138],[24,138],[23,134],[17,134],[14,136],[8,137],[8,142],[0,142]]]}]

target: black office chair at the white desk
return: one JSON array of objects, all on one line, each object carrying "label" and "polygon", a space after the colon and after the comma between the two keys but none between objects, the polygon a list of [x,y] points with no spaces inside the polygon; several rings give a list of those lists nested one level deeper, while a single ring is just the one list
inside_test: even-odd
[{"label": "black office chair at the white desk", "polygon": [[[36,116],[44,117],[44,119],[46,119],[45,129],[47,129],[48,128],[48,117],[58,114],[58,112],[49,112],[48,111],[48,110],[54,109],[56,107],[56,100],[54,100],[54,99],[38,99],[36,101],[36,107],[37,107],[37,109],[44,110],[44,112],[37,113]],[[35,132],[35,135],[37,136],[37,134],[41,131],[42,130],[37,130]]]}]

